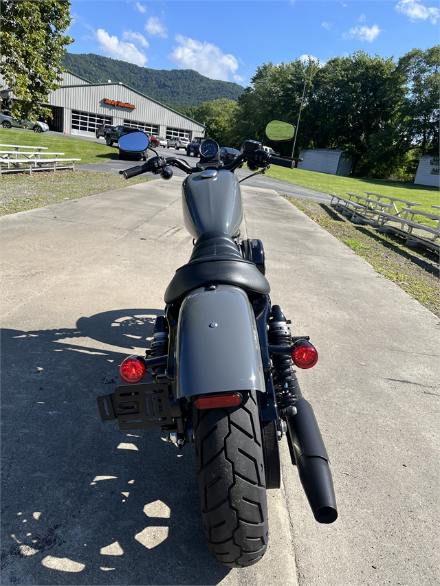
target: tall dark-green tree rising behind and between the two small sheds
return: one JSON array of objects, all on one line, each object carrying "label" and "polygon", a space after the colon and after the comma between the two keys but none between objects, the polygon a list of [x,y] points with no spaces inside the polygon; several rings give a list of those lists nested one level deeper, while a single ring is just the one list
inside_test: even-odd
[{"label": "tall dark-green tree rising behind and between the two small sheds", "polygon": [[404,82],[393,58],[358,51],[327,61],[304,114],[309,146],[347,150],[356,174],[378,177],[391,170],[405,150],[397,140]]}]

